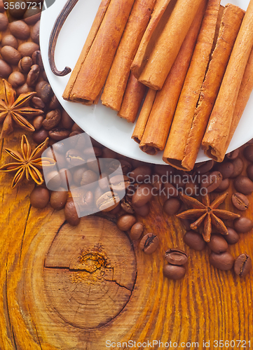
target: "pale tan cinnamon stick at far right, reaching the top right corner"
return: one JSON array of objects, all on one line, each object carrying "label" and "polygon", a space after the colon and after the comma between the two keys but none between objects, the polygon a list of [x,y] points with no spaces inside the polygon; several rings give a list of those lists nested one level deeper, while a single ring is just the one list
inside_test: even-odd
[{"label": "pale tan cinnamon stick at far right, reaching the top right corner", "polygon": [[222,162],[226,153],[235,104],[252,44],[253,0],[250,0],[203,137],[205,154],[217,162]]}]

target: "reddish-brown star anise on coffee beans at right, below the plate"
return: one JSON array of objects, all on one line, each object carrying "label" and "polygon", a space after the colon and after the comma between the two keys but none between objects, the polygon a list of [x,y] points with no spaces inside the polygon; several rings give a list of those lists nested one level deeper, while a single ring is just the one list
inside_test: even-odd
[{"label": "reddish-brown star anise on coffee beans at right, below the plate", "polygon": [[212,225],[219,233],[221,233],[221,235],[228,234],[228,229],[221,219],[233,220],[235,218],[240,218],[240,215],[234,214],[231,211],[217,209],[217,207],[219,207],[219,205],[224,202],[228,196],[228,192],[215,198],[211,204],[208,194],[202,196],[203,203],[196,200],[196,198],[189,197],[187,195],[181,194],[180,196],[182,201],[192,209],[177,214],[177,217],[182,219],[198,218],[198,220],[190,225],[192,230],[196,230],[201,223],[204,223],[202,235],[205,241],[210,241]]}]

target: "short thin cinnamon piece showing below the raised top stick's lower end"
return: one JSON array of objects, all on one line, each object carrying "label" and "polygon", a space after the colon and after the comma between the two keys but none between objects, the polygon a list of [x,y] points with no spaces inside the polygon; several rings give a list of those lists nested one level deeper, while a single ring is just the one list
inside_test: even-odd
[{"label": "short thin cinnamon piece showing below the raised top stick's lower end", "polygon": [[142,105],[142,109],[139,112],[139,117],[135,125],[135,130],[132,133],[132,139],[134,139],[135,142],[137,142],[137,144],[139,144],[142,141],[142,135],[144,133],[146,123],[149,120],[149,115],[156,97],[156,93],[156,90],[148,90],[144,103]]}]

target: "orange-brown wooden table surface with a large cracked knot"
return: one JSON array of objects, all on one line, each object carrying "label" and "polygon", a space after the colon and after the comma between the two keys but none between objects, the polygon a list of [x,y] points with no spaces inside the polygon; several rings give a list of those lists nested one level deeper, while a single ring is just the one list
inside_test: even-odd
[{"label": "orange-brown wooden table surface with a large cracked knot", "polygon": [[[18,149],[21,135],[0,141],[1,165],[4,147]],[[0,174],[1,349],[221,349],[219,340],[224,349],[251,349],[253,272],[240,278],[212,267],[208,248],[184,244],[182,223],[163,213],[159,197],[139,218],[160,238],[158,251],[145,255],[105,218],[82,218],[73,228],[50,204],[32,208],[33,183],[11,190],[11,179]],[[253,195],[249,200],[244,215],[253,219]],[[234,210],[230,200],[221,208]],[[189,254],[179,281],[163,277],[172,247]],[[229,251],[253,257],[252,247],[248,232]]]}]

